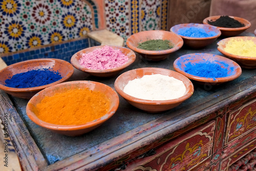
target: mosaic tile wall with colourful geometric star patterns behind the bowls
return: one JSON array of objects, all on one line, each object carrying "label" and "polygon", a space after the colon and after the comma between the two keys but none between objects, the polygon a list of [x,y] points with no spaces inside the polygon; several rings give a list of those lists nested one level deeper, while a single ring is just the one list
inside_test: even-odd
[{"label": "mosaic tile wall with colourful geometric star patterns behind the bowls", "polygon": [[[106,21],[106,29],[122,36],[124,40],[139,31],[166,30],[167,0],[102,2],[105,3],[103,19]],[[70,61],[70,52],[75,53],[89,47],[86,37],[79,40],[83,41],[81,49],[72,46],[76,42],[74,40],[83,37],[88,31],[97,29],[98,19],[97,7],[93,0],[2,0],[0,56],[12,52],[13,55],[1,56],[7,65],[38,57],[61,56],[61,59]],[[58,48],[55,48],[56,44],[62,47],[70,46],[69,51],[65,50],[60,54]],[[30,48],[38,50],[24,52]]]}]

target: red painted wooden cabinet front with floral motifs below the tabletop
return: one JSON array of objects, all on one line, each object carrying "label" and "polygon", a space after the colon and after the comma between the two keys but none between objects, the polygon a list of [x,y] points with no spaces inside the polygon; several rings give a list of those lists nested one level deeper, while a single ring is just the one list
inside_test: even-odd
[{"label": "red painted wooden cabinet front with floral motifs below the tabletop", "polygon": [[[119,161],[122,165],[113,170],[242,171],[254,169],[256,164],[255,97],[256,93],[246,96],[191,123],[184,129],[165,136],[154,145],[145,147],[144,149],[151,149],[144,155],[139,155],[133,160],[126,160],[131,155],[123,157],[123,161]],[[141,152],[137,152],[139,153]]]}]

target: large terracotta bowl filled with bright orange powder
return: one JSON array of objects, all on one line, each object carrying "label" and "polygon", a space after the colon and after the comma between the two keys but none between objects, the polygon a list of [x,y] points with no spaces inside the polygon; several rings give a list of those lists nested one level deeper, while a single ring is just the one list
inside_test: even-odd
[{"label": "large terracotta bowl filled with bright orange powder", "polygon": [[118,105],[118,95],[111,87],[94,81],[70,81],[34,95],[26,112],[39,126],[58,134],[79,136],[110,119]]}]

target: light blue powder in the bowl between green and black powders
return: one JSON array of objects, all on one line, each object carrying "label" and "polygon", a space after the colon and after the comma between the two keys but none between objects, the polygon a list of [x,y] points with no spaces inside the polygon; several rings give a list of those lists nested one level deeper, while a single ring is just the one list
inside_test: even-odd
[{"label": "light blue powder in the bowl between green and black powders", "polygon": [[217,33],[215,33],[214,31],[207,31],[205,29],[197,28],[197,27],[181,28],[178,30],[178,34],[182,36],[197,37],[197,38],[212,37],[217,35]]}]

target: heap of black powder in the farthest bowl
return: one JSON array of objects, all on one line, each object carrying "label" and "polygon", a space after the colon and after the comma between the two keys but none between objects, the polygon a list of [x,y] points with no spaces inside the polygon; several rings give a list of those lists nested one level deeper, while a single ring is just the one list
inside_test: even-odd
[{"label": "heap of black powder in the farthest bowl", "polygon": [[208,20],[208,24],[210,24],[212,26],[225,27],[225,28],[244,27],[244,24],[240,23],[238,20],[236,20],[234,18],[231,18],[231,17],[229,17],[227,15],[221,16],[216,21]]}]

